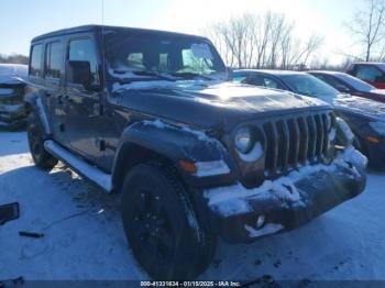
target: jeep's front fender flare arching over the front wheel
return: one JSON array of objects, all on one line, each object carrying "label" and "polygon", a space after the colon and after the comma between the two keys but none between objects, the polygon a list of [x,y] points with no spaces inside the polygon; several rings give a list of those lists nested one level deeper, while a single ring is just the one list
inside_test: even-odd
[{"label": "jeep's front fender flare arching over the front wheel", "polygon": [[[237,166],[224,148],[224,146],[213,137],[207,136],[204,132],[165,124],[161,121],[142,121],[127,128],[121,136],[116,153],[112,167],[112,185],[119,187],[122,177],[134,166],[135,158],[140,157],[140,151],[132,148],[140,147],[154,155],[166,158],[169,163],[177,164],[184,159],[191,163],[211,163],[222,160],[229,173],[199,177],[184,171],[179,165],[174,165],[188,185],[196,187],[206,186],[209,181],[233,182],[237,179]],[[128,162],[132,163],[127,164]],[[138,163],[136,163],[138,164]]]}]

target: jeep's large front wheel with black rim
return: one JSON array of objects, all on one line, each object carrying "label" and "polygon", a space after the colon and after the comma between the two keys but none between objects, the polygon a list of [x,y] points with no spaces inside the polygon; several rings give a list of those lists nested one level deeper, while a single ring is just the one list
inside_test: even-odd
[{"label": "jeep's large front wheel with black rim", "polygon": [[140,164],[122,187],[123,226],[133,255],[154,279],[194,279],[210,265],[217,237],[196,221],[180,180]]}]

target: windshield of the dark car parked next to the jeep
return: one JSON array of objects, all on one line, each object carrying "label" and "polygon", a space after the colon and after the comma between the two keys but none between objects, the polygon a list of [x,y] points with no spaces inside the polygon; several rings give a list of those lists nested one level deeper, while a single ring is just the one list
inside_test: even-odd
[{"label": "windshield of the dark car parked next to the jeep", "polygon": [[311,75],[282,75],[280,78],[290,89],[299,95],[332,100],[339,91]]}]

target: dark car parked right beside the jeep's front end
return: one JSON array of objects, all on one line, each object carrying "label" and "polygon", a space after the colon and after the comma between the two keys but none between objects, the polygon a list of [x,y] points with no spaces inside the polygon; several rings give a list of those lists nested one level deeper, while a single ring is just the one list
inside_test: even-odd
[{"label": "dark car parked right beside the jeep's front end", "polygon": [[385,168],[385,104],[341,95],[330,85],[300,71],[237,70],[233,79],[265,88],[283,89],[321,99],[331,104],[355,135],[355,146],[369,157],[373,168]]}]

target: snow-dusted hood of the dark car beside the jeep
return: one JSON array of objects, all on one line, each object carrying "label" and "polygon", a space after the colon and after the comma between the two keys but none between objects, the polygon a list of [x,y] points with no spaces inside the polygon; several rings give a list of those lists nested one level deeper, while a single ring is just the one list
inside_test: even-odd
[{"label": "snow-dusted hood of the dark car beside the jeep", "polygon": [[333,107],[338,110],[359,113],[361,115],[385,121],[385,104],[375,100],[341,95],[334,99]]}]

